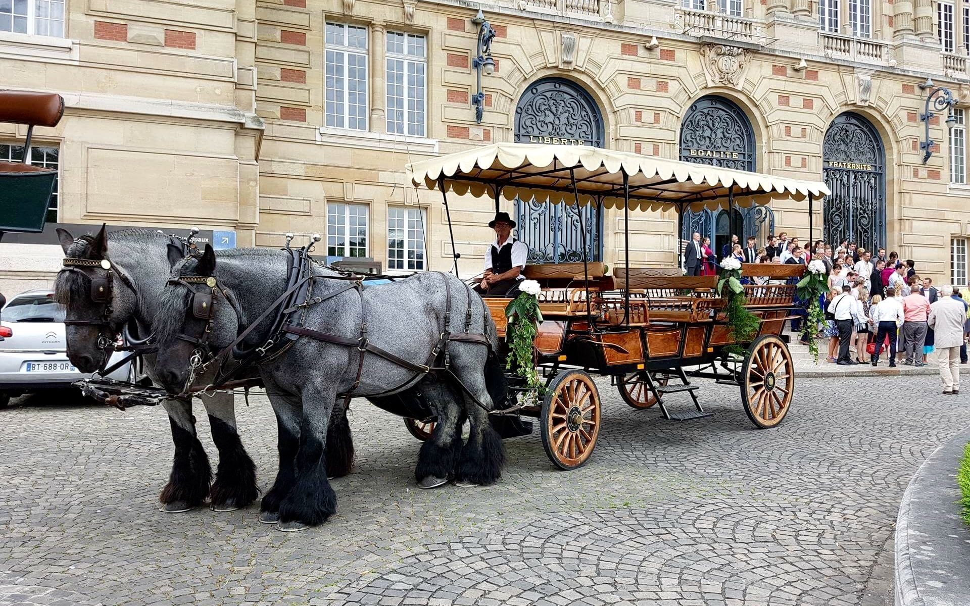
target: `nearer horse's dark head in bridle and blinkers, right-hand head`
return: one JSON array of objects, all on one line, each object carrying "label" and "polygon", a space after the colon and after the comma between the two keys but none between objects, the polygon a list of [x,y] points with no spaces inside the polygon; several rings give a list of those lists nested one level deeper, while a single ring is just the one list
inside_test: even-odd
[{"label": "nearer horse's dark head in bridle and blinkers, right-hand head", "polygon": [[172,275],[162,290],[154,335],[156,371],[161,386],[181,394],[196,372],[236,338],[239,313],[215,274],[209,244],[201,257],[181,258],[170,251]]}]

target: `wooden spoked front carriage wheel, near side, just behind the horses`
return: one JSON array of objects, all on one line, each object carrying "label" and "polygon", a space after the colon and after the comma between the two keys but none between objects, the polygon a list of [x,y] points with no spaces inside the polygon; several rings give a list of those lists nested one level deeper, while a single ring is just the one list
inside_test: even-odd
[{"label": "wooden spoked front carriage wheel, near side, just behind the horses", "polygon": [[580,466],[597,445],[599,392],[582,370],[560,371],[542,399],[542,446],[560,469]]}]

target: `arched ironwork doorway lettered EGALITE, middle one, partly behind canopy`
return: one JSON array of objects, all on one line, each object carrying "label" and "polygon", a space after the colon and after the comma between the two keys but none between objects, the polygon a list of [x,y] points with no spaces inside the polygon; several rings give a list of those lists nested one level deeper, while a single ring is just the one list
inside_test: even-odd
[{"label": "arched ironwork doorway lettered EGALITE, middle one, partly behind canopy", "polygon": [[[680,126],[680,159],[698,164],[722,166],[740,171],[755,170],[755,132],[748,116],[734,102],[708,95],[695,101]],[[760,244],[774,230],[774,213],[769,207],[689,211],[684,217],[681,239],[695,232],[711,239],[711,247],[720,258],[731,235],[742,244],[755,236]]]}]

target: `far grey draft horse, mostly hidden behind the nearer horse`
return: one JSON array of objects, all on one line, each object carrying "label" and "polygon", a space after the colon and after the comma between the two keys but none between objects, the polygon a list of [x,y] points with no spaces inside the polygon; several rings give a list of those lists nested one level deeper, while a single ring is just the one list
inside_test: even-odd
[{"label": "far grey draft horse, mostly hidden behind the nearer horse", "polygon": [[[66,319],[103,324],[68,324],[67,353],[71,363],[82,372],[104,368],[111,356],[113,336],[129,322],[137,323],[139,334],[150,333],[158,312],[159,296],[171,266],[168,246],[171,239],[155,231],[130,229],[106,236],[105,227],[96,236],[75,239],[66,230],[57,230],[64,255],[72,259],[99,262],[109,260],[114,272],[111,299],[92,300],[92,279],[107,271],[94,263],[82,271],[62,270],[55,282],[55,298],[66,305]],[[106,311],[108,313],[106,313]],[[157,381],[155,356],[147,354],[146,372]],[[163,407],[169,414],[175,458],[169,481],[159,500],[170,513],[188,511],[207,498],[215,511],[245,507],[259,495],[256,467],[242,446],[236,425],[233,397],[219,394],[202,399],[209,414],[212,441],[219,451],[219,463],[212,481],[209,457],[195,430],[192,399],[169,399]],[[347,430],[349,431],[349,429]]]}]

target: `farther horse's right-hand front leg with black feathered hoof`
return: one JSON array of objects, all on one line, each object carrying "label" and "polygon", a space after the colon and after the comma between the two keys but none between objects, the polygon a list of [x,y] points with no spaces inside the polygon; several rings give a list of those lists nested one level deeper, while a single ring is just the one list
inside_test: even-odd
[{"label": "farther horse's right-hand front leg with black feathered hoof", "polygon": [[212,441],[219,449],[215,481],[209,489],[213,511],[234,511],[256,500],[256,465],[242,446],[236,427],[236,403],[232,394],[202,398],[209,413]]}]

